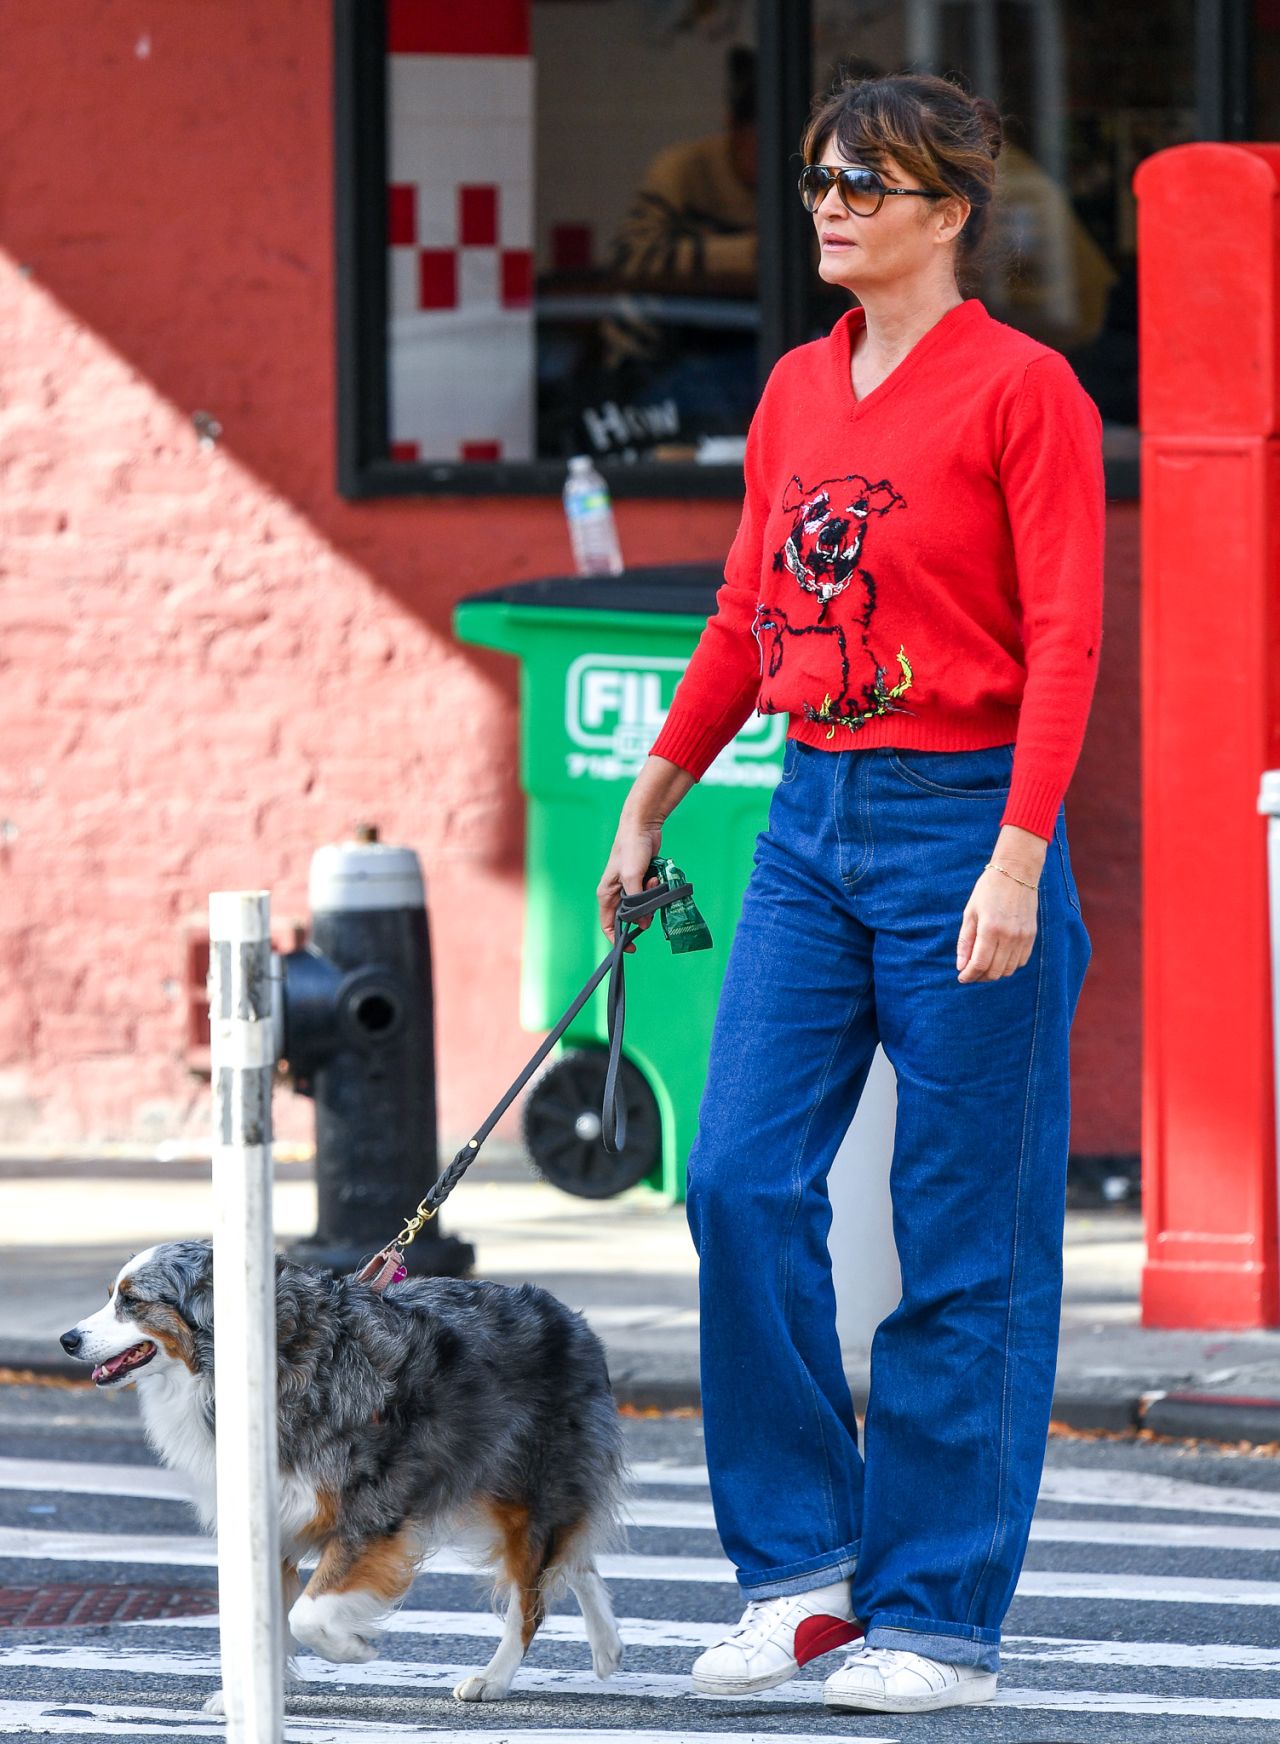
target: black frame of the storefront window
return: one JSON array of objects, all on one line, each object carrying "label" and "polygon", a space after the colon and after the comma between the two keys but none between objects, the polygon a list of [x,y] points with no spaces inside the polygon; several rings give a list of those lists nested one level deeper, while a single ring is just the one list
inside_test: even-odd
[{"label": "black frame of the storefront window", "polygon": [[[1250,0],[1196,0],[1196,138],[1252,129]],[[760,234],[760,380],[804,338],[809,220],[790,157],[809,113],[809,0],[755,0]],[[392,460],[387,455],[385,0],[333,0],[337,483],[375,497],[558,495],[560,460]],[[598,462],[616,497],[741,497],[738,464]],[[1107,497],[1135,501],[1137,459],[1107,459]]]}]

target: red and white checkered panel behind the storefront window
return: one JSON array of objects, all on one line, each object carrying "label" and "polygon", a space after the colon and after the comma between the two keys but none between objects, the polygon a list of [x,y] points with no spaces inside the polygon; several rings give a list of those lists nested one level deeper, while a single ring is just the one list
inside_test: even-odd
[{"label": "red and white checkered panel behind the storefront window", "polygon": [[392,0],[389,51],[391,453],[532,459],[528,0]]}]

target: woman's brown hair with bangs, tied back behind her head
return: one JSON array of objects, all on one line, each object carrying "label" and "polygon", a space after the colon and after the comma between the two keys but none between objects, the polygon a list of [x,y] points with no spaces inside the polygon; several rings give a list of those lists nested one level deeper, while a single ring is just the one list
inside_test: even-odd
[{"label": "woman's brown hair with bangs, tied back behind her head", "polygon": [[[800,141],[804,162],[818,162],[828,140],[842,157],[872,169],[891,157],[921,187],[970,202],[956,241],[956,279],[968,295],[985,265],[996,159],[1004,143],[996,105],[935,73],[865,78],[844,72],[814,99]],[[917,204],[928,209],[931,202]]]}]

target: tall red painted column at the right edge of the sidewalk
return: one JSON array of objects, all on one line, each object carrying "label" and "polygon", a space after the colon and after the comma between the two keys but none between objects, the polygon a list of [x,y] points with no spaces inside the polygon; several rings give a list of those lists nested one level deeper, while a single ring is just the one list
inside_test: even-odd
[{"label": "tall red painted column at the right edge of the sidewalk", "polygon": [[1280,1322],[1257,814],[1280,767],[1280,146],[1174,146],[1134,188],[1142,1322],[1263,1327]]}]

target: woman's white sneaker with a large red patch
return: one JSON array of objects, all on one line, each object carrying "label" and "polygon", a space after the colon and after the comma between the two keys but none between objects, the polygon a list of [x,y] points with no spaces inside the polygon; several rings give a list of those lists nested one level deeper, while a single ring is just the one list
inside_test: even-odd
[{"label": "woman's white sneaker with a large red patch", "polygon": [[694,1660],[694,1688],[703,1695],[750,1695],[786,1683],[820,1653],[848,1646],[861,1634],[849,1606],[849,1582],[776,1599],[752,1599],[732,1634]]}]

